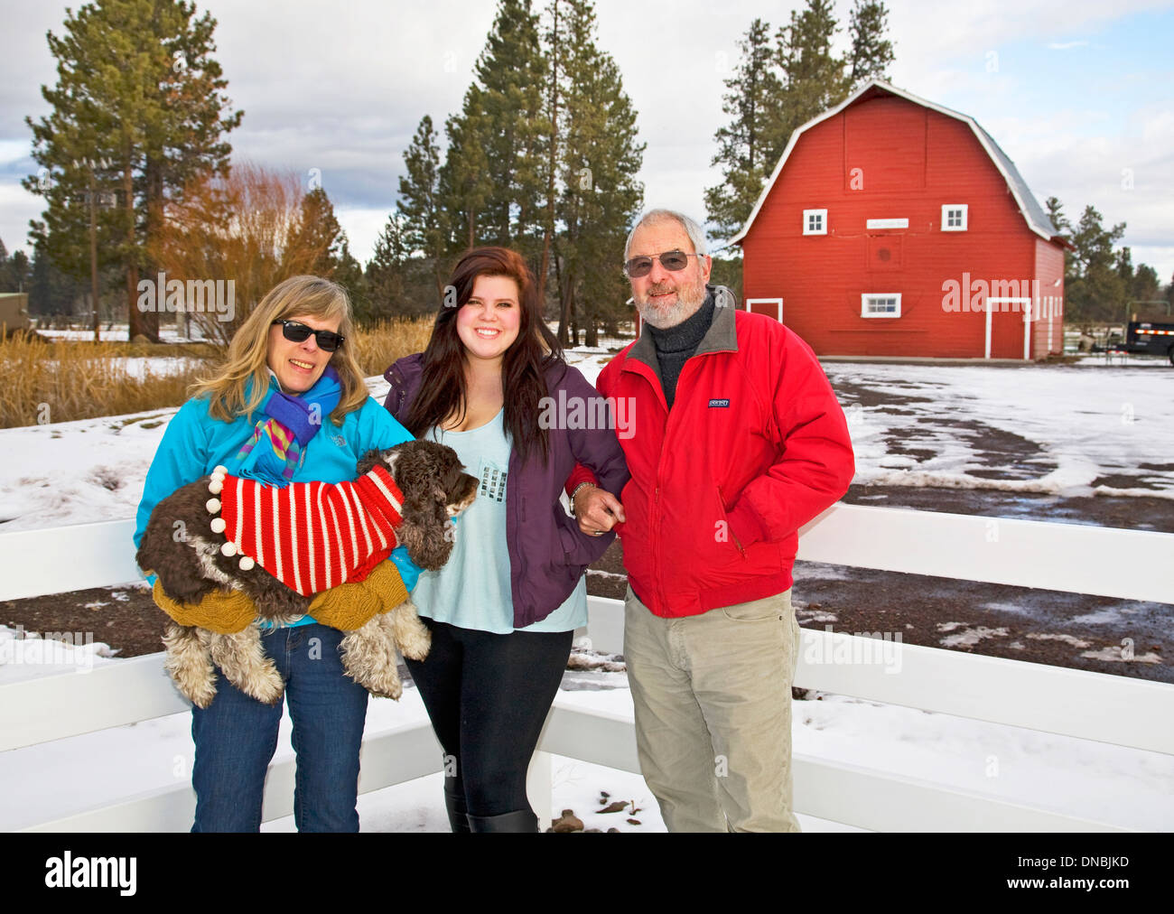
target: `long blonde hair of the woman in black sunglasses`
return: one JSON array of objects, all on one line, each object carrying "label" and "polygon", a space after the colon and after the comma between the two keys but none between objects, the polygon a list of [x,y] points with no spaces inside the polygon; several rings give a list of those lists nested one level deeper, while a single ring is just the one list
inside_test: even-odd
[{"label": "long blonde hair of the woman in black sunglasses", "polygon": [[[290,276],[270,289],[232,335],[220,372],[198,379],[188,395],[207,396],[211,401],[208,414],[223,422],[232,422],[243,414],[251,417],[269,391],[269,328],[274,321],[291,317],[338,318],[338,334],[346,341],[330,354],[329,364],[338,372],[343,392],[330,419],[342,425],[343,417],[362,408],[370,394],[351,345],[355,341],[351,300],[342,285],[319,276]],[[247,397],[250,379],[252,389]]]}]

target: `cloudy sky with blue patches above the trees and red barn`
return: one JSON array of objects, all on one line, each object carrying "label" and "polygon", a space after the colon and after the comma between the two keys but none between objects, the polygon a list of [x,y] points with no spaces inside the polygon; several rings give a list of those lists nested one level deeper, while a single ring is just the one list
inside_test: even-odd
[{"label": "cloudy sky with blue patches above the trees and red barn", "polygon": [[[77,6],[79,4],[74,4]],[[459,108],[493,21],[491,0],[197,0],[218,20],[217,58],[245,112],[234,160],[319,169],[356,256],[371,255],[396,204],[403,152],[420,116]],[[541,0],[535,6],[541,6]],[[801,2],[596,0],[600,45],[616,60],[648,143],[646,201],[704,215],[722,80],[755,16],[778,26]],[[837,0],[846,32],[850,0]],[[1126,222],[1134,263],[1174,274],[1174,4],[1154,0],[889,0],[895,85],[973,115],[1035,197],[1070,216],[1094,204]],[[65,4],[2,0],[0,238],[27,249],[41,201],[25,115],[55,82],[45,34]],[[844,32],[839,42],[846,43]]]}]

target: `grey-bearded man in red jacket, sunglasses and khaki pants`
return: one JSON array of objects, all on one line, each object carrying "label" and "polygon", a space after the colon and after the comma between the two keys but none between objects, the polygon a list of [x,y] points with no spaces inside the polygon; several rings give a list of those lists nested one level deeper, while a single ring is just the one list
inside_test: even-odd
[{"label": "grey-bearded man in red jacket, sunglasses and khaki pants", "polygon": [[811,349],[708,284],[704,235],[657,209],[628,236],[640,338],[600,374],[628,398],[622,504],[568,482],[585,532],[619,524],[636,747],[672,832],[798,831],[791,808],[796,531],[852,478]]}]

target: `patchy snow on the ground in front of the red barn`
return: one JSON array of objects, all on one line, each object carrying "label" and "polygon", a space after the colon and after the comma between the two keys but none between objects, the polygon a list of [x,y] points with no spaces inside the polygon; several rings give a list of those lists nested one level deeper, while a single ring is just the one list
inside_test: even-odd
[{"label": "patchy snow on the ground in front of the red barn", "polygon": [[[823,367],[848,416],[856,483],[1174,498],[1174,370]],[[879,404],[861,403],[877,395]],[[972,442],[986,429],[1038,445],[1030,461],[1038,469],[980,459]],[[992,469],[1000,478],[990,478]],[[1136,484],[1094,488],[1104,476]]]}]

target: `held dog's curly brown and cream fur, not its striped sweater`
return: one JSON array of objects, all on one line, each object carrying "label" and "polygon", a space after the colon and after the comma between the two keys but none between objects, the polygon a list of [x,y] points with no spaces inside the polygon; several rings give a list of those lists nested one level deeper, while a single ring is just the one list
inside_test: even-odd
[{"label": "held dog's curly brown and cream fur, not its striped sweater", "polygon": [[[358,463],[357,476],[379,463],[404,493],[397,538],[421,569],[440,569],[452,555],[451,518],[472,503],[477,479],[463,472],[456,451],[436,442],[412,441],[385,451],[369,451]],[[304,616],[311,598],[286,587],[259,564],[244,571],[235,556],[221,552],[225,537],[208,526],[209,478],[197,479],[155,505],[136,556],[139,567],[157,574],[163,592],[183,603],[198,603],[221,587],[245,593],[261,618],[289,623]],[[416,607],[404,600],[346,634],[343,665],[346,674],[372,694],[399,698],[403,686],[394,648],[423,660],[429,643],[429,630]],[[261,646],[256,625],[234,634],[216,634],[173,621],[163,644],[167,671],[197,707],[207,707],[216,694],[216,666],[232,685],[265,704],[278,701],[284,692],[277,667]]]}]

